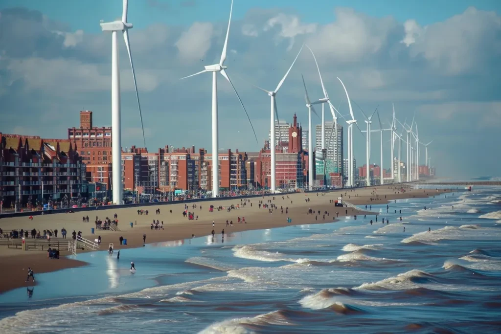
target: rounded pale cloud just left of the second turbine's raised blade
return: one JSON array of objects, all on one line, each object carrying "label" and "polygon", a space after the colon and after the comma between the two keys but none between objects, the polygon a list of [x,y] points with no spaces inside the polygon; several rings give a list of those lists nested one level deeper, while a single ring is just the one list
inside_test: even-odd
[{"label": "rounded pale cloud just left of the second turbine's raised blade", "polygon": [[211,23],[195,22],[191,25],[175,43],[179,51],[179,59],[193,61],[203,58],[210,48],[212,32]]}]

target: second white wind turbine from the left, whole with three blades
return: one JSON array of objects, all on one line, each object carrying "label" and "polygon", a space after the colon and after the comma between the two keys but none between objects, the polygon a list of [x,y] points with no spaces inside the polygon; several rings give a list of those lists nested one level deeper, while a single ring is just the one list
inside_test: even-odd
[{"label": "second white wind turbine from the left, whole with three blades", "polygon": [[205,70],[179,79],[182,80],[205,72],[212,72],[212,197],[214,198],[219,196],[219,154],[218,154],[218,122],[217,122],[217,73],[218,72],[224,77],[224,79],[226,79],[229,82],[231,88],[233,88],[233,92],[235,92],[235,95],[238,98],[240,105],[242,106],[243,112],[245,113],[245,116],[247,116],[247,119],[250,123],[250,127],[254,132],[254,137],[256,137],[256,143],[258,142],[258,136],[256,136],[256,131],[254,131],[254,126],[252,125],[252,122],[250,122],[249,115],[247,114],[247,111],[243,106],[240,96],[236,92],[235,86],[233,86],[233,83],[231,82],[231,80],[228,77],[228,74],[225,71],[227,67],[224,65],[224,61],[226,60],[226,49],[228,47],[228,35],[229,35],[229,26],[231,24],[232,11],[233,11],[233,0],[231,0],[231,7],[229,9],[228,29],[226,30],[226,39],[224,40],[224,46],[222,48],[221,59],[219,60],[219,63],[205,66],[204,67]]}]

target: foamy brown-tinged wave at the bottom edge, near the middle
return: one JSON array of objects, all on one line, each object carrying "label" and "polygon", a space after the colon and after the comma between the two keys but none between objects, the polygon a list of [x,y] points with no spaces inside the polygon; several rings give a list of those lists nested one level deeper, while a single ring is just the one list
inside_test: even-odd
[{"label": "foamy brown-tinged wave at the bottom edge, near the middle", "polygon": [[199,334],[250,334],[256,333],[255,326],[267,325],[294,325],[291,320],[298,311],[277,310],[254,317],[243,317],[225,320],[211,324]]}]

